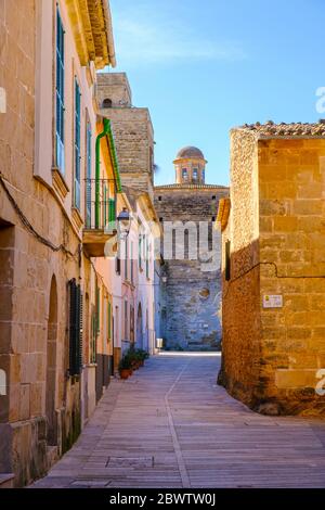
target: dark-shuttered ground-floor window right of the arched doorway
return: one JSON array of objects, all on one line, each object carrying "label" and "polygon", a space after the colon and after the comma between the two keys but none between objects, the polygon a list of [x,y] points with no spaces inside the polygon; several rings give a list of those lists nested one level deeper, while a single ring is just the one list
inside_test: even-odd
[{"label": "dark-shuttered ground-floor window right of the arched doorway", "polygon": [[82,367],[82,294],[76,280],[68,282],[69,290],[69,374],[78,375]]}]

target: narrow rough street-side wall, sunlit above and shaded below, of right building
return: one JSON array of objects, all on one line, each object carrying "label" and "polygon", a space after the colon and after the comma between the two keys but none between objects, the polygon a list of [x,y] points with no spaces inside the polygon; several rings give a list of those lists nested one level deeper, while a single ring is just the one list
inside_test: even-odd
[{"label": "narrow rough street-side wall, sunlit above and shaded below, of right building", "polygon": [[[260,303],[257,146],[250,133],[231,137],[231,216],[223,232],[222,370],[220,380],[237,398],[251,398],[260,384]],[[256,190],[256,194],[253,193]],[[230,241],[231,279],[224,278],[225,242]],[[239,278],[242,273],[247,275]]]}]

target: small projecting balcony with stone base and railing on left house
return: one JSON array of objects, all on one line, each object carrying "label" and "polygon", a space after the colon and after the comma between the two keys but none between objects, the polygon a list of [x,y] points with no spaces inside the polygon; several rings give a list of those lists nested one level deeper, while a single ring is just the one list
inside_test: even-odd
[{"label": "small projecting balcony with stone base and railing on left house", "polygon": [[86,218],[82,244],[90,257],[104,257],[105,244],[116,234],[114,179],[86,179]]}]

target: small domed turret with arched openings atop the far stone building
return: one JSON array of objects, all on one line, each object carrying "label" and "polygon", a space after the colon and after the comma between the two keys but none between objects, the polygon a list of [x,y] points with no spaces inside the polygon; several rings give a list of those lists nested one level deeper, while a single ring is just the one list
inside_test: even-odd
[{"label": "small domed turret with arched openings atop the far stone building", "polygon": [[181,149],[173,164],[177,184],[205,184],[207,161],[196,146]]}]

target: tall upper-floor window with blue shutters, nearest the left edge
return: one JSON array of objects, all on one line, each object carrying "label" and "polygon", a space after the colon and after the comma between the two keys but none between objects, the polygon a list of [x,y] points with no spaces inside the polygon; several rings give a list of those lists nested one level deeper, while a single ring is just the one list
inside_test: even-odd
[{"label": "tall upper-floor window with blue shutters, nearest the left edge", "polygon": [[64,29],[58,10],[56,11],[56,117],[55,151],[56,166],[62,174],[64,167]]}]

